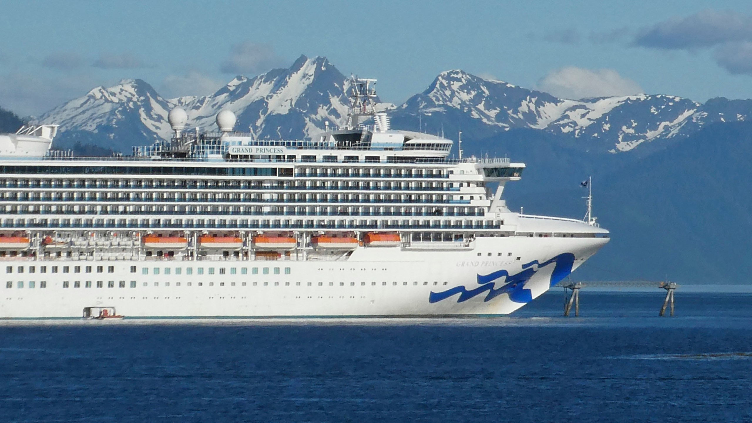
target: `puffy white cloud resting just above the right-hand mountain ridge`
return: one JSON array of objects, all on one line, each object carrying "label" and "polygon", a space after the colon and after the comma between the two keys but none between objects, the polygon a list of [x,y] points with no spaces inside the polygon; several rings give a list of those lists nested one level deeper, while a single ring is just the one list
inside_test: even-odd
[{"label": "puffy white cloud resting just above the right-hand mountain ridge", "polygon": [[560,99],[627,96],[642,93],[635,81],[623,78],[614,69],[584,69],[575,66],[551,71],[538,81],[538,90]]}]

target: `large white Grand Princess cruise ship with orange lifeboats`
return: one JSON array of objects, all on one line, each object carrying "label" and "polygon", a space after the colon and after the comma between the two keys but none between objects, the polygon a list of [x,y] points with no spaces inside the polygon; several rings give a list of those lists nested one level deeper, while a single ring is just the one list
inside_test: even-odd
[{"label": "large white Grand Princess cruise ship with orange lifeboats", "polygon": [[56,125],[0,135],[0,318],[506,315],[608,242],[590,215],[512,212],[523,163],[391,129],[373,83],[307,140],[180,108],[132,157],[52,150]]}]

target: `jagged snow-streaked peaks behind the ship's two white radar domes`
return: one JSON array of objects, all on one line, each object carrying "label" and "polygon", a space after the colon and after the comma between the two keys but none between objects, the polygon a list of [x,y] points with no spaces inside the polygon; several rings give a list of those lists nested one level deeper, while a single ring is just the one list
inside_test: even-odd
[{"label": "jagged snow-streaked peaks behind the ship's two white radar domes", "polygon": [[307,138],[326,121],[339,123],[347,114],[347,84],[326,58],[301,56],[288,69],[238,76],[210,96],[164,99],[144,81],[123,80],[114,87],[96,87],[38,121],[61,124],[58,147],[79,142],[123,153],[169,138],[167,114],[175,106],[186,109],[190,126],[213,129],[217,113],[227,109],[238,117],[235,129],[256,138]]}]

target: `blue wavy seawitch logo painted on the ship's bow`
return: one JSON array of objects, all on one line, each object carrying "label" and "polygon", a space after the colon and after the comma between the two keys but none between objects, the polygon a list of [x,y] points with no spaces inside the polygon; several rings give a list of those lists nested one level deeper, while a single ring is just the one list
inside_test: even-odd
[{"label": "blue wavy seawitch logo painted on the ship's bow", "polygon": [[[483,294],[488,291],[484,301],[493,300],[499,297],[501,294],[509,294],[509,299],[515,303],[527,303],[532,300],[532,292],[525,288],[527,281],[538,272],[541,267],[549,266],[553,263],[553,272],[551,272],[550,286],[556,285],[563,278],[566,278],[569,273],[572,273],[572,266],[575,264],[575,254],[563,253],[550,260],[538,263],[538,260],[533,260],[530,263],[523,264],[522,272],[510,275],[506,270],[498,270],[488,275],[478,275],[478,288],[468,290],[464,286],[449,288],[447,291],[433,292],[429,294],[429,303],[438,303],[441,300],[446,300],[455,294],[459,294],[457,303],[470,300],[471,298]],[[504,284],[499,288],[496,288],[496,280],[502,277],[506,277]]]}]

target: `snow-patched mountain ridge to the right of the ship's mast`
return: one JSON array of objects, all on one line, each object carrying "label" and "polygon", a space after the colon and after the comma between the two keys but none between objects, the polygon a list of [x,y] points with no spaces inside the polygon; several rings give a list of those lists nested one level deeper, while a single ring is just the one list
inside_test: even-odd
[{"label": "snow-patched mountain ridge to the right of the ship's mast", "polygon": [[[393,114],[395,126],[437,131],[439,126],[461,129],[471,136],[516,128],[542,129],[569,138],[585,151],[629,151],[659,138],[684,136],[705,123],[747,120],[752,103],[726,99],[701,105],[664,95],[635,95],[596,99],[558,99],[504,81],[491,81],[453,70],[442,72],[423,93]],[[725,117],[721,109],[729,108]]]}]

